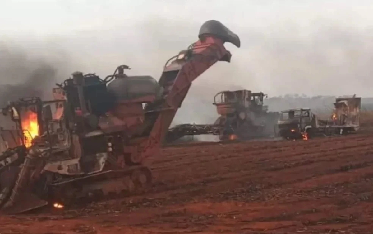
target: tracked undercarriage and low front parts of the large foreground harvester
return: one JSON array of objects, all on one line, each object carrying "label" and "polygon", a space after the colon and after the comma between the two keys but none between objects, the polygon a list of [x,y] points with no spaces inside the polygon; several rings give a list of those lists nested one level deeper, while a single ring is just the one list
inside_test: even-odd
[{"label": "tracked undercarriage and low front parts of the large foreground harvester", "polygon": [[[32,148],[21,168],[8,165],[1,172],[0,208],[3,212],[21,213],[47,204],[70,206],[139,194],[151,185],[151,171],[147,166],[116,168],[109,161],[105,162],[107,169],[89,175],[62,175],[47,171],[46,167],[40,172],[38,168],[42,168],[43,161],[50,156],[48,150]],[[40,176],[34,178],[35,172]]]}]

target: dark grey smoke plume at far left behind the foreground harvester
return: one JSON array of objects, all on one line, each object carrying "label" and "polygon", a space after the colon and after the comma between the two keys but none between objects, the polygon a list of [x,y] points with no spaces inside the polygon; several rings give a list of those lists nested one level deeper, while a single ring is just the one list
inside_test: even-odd
[{"label": "dark grey smoke plume at far left behind the foreground harvester", "polygon": [[66,57],[43,55],[33,47],[3,43],[0,45],[0,107],[23,97],[51,98],[52,87],[62,79]]}]

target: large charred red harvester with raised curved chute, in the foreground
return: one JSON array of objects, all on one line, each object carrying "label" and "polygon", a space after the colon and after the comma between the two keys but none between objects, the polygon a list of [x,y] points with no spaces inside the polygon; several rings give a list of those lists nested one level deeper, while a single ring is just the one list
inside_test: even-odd
[{"label": "large charred red harvester with raised curved chute, in the foreground", "polygon": [[54,90],[59,98],[23,99],[5,108],[22,129],[23,144],[0,156],[6,160],[0,165],[2,211],[144,191],[151,182],[144,160],[159,154],[192,81],[215,62],[230,62],[225,42],[240,47],[219,21],[205,22],[198,37],[167,61],[158,82],[126,76],[124,65],[105,79],[77,72]]}]

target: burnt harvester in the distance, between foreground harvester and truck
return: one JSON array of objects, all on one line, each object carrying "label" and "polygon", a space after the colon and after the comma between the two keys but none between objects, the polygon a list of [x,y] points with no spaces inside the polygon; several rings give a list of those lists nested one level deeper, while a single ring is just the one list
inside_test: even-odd
[{"label": "burnt harvester in the distance, between foreground harvester and truck", "polygon": [[214,124],[179,124],[169,129],[167,141],[185,135],[219,135],[221,141],[255,139],[275,135],[279,117],[263,105],[266,95],[250,90],[222,91],[214,96],[213,105],[220,115]]}]

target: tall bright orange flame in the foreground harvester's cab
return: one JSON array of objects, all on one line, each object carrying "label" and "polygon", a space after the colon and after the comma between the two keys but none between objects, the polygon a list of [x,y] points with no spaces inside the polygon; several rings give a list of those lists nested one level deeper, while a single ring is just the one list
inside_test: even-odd
[{"label": "tall bright orange flame in the foreground harvester's cab", "polygon": [[32,139],[39,135],[38,116],[32,111],[26,111],[22,115],[21,125],[23,134],[25,135],[25,146],[31,146]]}]

